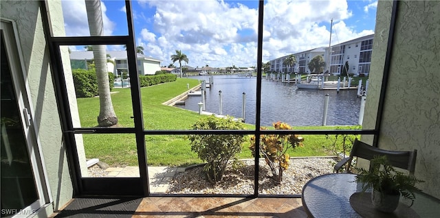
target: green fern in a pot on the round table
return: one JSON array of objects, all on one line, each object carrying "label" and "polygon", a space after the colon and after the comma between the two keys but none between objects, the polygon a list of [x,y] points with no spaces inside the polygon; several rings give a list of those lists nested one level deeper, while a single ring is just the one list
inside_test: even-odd
[{"label": "green fern in a pot on the round table", "polygon": [[400,195],[410,199],[412,206],[414,192],[420,191],[415,184],[423,182],[422,180],[396,171],[386,156],[375,156],[371,160],[371,166],[371,171],[356,168],[359,174],[356,175],[355,182],[362,183],[363,192],[371,189],[371,201],[377,210],[392,213],[399,205]]}]

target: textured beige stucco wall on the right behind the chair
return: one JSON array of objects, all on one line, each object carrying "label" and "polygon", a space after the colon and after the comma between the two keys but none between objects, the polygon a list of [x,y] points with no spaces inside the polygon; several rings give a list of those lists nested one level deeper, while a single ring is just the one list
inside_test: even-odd
[{"label": "textured beige stucco wall on the right behind the chair", "polygon": [[[375,126],[391,5],[377,5],[364,129]],[[417,149],[419,187],[440,198],[440,1],[400,1],[393,46],[379,147]]]}]

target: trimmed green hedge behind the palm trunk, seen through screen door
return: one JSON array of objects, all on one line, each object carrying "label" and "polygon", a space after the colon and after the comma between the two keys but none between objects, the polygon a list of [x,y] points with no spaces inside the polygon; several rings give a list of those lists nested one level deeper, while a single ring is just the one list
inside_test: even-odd
[{"label": "trimmed green hedge behind the palm trunk, seen through screen door", "polygon": [[[98,81],[94,70],[75,69],[72,71],[76,97],[94,97],[98,95]],[[109,73],[110,90],[113,89],[114,75]]]}]

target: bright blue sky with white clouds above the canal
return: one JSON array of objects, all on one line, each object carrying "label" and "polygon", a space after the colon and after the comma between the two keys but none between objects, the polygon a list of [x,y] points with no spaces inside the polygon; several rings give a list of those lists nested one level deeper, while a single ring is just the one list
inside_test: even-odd
[{"label": "bright blue sky with white clouds above the canal", "polygon": [[[173,62],[181,50],[193,67],[256,66],[258,1],[132,1],[136,45],[144,55]],[[67,36],[89,36],[84,1],[62,0]],[[105,36],[126,36],[124,1],[101,0]],[[374,0],[267,0],[263,12],[263,62],[374,34]],[[84,47],[70,47],[84,51]],[[108,50],[125,50],[109,45]],[[179,66],[178,62],[174,64]]]}]

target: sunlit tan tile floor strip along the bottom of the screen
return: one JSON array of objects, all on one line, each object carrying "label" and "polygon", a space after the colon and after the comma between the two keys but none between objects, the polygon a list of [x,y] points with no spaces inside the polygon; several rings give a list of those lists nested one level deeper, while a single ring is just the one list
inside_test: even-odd
[{"label": "sunlit tan tile floor strip along the bottom of the screen", "polygon": [[307,217],[300,198],[145,197],[133,217]]}]

